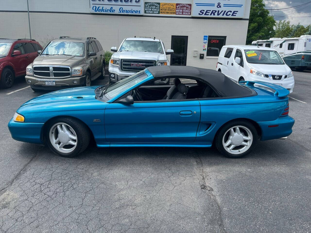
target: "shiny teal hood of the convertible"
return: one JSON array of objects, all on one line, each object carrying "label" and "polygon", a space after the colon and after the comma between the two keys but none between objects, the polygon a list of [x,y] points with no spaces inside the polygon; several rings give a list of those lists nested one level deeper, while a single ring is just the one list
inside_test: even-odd
[{"label": "shiny teal hood of the convertible", "polygon": [[91,86],[91,87],[75,87],[64,89],[60,91],[54,91],[48,94],[40,95],[35,97],[22,106],[25,105],[37,105],[41,103],[57,105],[57,103],[66,102],[71,104],[71,102],[78,101],[89,101],[90,99],[95,99],[95,89],[98,86]]}]

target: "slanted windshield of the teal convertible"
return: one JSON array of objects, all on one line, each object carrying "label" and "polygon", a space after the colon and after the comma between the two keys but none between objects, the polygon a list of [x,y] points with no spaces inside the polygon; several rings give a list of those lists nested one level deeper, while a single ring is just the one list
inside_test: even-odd
[{"label": "slanted windshield of the teal convertible", "polygon": [[132,76],[129,76],[125,79],[118,81],[117,83],[109,85],[109,87],[105,91],[105,97],[108,99],[112,99],[121,92],[127,90],[129,87],[144,80],[146,77],[147,77],[146,73],[144,71],[140,71]]}]

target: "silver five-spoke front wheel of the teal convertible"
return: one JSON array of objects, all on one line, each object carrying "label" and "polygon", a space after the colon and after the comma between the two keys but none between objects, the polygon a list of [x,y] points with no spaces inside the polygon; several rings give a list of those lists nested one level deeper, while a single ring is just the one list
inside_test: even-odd
[{"label": "silver five-spoke front wheel of the teal convertible", "polygon": [[54,124],[50,129],[49,138],[53,147],[62,153],[70,153],[77,147],[77,134],[66,123]]}]

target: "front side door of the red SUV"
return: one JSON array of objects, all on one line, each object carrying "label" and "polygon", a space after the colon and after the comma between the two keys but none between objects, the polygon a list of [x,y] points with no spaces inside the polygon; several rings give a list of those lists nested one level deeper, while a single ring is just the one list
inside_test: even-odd
[{"label": "front side door of the red SUV", "polygon": [[22,43],[14,44],[12,54],[13,54],[13,51],[16,51],[16,50],[21,51],[21,55],[12,56],[11,61],[15,69],[15,75],[20,76],[20,75],[26,74],[26,67],[29,65],[28,60],[27,60],[28,57],[27,57],[27,54],[25,54],[25,50],[24,50]]}]

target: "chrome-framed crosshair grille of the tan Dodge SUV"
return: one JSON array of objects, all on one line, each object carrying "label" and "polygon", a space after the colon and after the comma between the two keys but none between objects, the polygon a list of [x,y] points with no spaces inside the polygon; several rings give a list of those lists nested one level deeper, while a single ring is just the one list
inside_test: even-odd
[{"label": "chrome-framed crosshair grille of the tan Dodge SUV", "polygon": [[36,77],[55,77],[67,78],[71,76],[69,66],[33,66],[34,76]]}]

